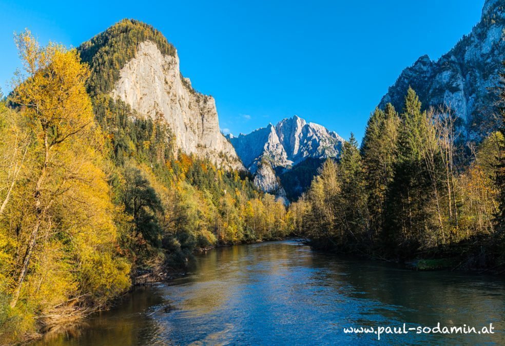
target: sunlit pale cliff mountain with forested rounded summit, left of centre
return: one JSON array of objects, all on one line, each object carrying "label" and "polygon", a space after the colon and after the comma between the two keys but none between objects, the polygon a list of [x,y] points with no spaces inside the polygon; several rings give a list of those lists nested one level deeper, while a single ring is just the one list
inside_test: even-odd
[{"label": "sunlit pale cliff mountain with forested rounded summit, left of centre", "polygon": [[235,149],[219,130],[212,96],[192,88],[180,72],[177,50],[156,29],[124,19],[79,47],[90,65],[90,93],[121,100],[139,117],[162,118],[175,148],[243,169]]}]

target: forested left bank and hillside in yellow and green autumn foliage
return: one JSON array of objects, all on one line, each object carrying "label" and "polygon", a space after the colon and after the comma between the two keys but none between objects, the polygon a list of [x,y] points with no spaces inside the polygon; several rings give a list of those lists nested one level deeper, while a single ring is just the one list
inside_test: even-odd
[{"label": "forested left bank and hillside in yellow and green autumn foliage", "polygon": [[198,247],[288,232],[284,205],[245,172],[176,152],[162,117],[104,94],[131,42],[171,51],[153,32],[135,26],[91,69],[16,36],[24,72],[0,104],[0,343],[104,309],[140,270],[183,270]]}]

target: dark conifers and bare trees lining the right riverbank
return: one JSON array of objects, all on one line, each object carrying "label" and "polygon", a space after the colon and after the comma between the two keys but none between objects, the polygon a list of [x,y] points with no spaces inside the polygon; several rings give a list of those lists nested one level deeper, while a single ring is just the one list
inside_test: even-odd
[{"label": "dark conifers and bare trees lining the right riverbank", "polygon": [[399,112],[391,104],[376,109],[361,148],[351,138],[340,162],[327,160],[290,206],[296,224],[318,248],[505,269],[503,90],[495,108],[500,131],[479,145],[458,145],[454,112],[421,111],[413,89]]}]

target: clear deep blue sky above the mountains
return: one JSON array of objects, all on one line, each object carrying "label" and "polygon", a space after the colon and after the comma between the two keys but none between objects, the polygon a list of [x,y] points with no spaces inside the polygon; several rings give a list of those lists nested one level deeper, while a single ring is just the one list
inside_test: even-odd
[{"label": "clear deep blue sky above the mountains", "polygon": [[479,21],[484,0],[5,1],[0,85],[19,66],[13,31],[67,46],[120,19],[159,29],[181,70],[216,98],[220,126],[248,133],[297,114],[360,139],[401,70],[448,51]]}]

